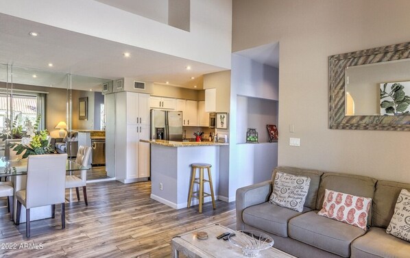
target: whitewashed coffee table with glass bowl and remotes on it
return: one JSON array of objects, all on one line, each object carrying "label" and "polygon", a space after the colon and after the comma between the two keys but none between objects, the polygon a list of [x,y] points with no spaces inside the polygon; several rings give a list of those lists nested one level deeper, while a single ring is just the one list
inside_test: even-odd
[{"label": "whitewashed coffee table with glass bowl and remotes on it", "polygon": [[[208,233],[208,239],[199,240],[196,236],[198,231],[205,231]],[[234,246],[229,240],[224,241],[222,239],[217,239],[217,236],[224,232],[234,232],[234,230],[219,224],[214,224],[173,237],[172,257],[179,257],[180,252],[190,258],[245,257],[242,254],[241,248]],[[261,250],[258,257],[296,258],[293,255],[289,255],[274,247]]]}]

